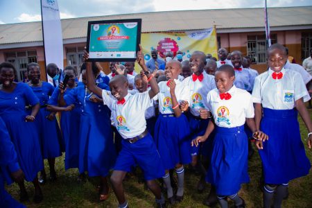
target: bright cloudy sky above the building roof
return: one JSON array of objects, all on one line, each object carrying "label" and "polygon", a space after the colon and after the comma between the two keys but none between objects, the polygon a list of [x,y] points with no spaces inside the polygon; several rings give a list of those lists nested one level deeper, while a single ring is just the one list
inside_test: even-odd
[{"label": "bright cloudy sky above the building roof", "polygon": [[[56,0],[55,0],[56,1]],[[311,0],[267,0],[268,7],[312,6]],[[61,19],[171,10],[259,8],[264,0],[58,0]],[[40,0],[0,0],[0,24],[40,21]]]}]

